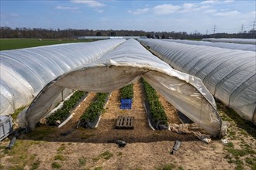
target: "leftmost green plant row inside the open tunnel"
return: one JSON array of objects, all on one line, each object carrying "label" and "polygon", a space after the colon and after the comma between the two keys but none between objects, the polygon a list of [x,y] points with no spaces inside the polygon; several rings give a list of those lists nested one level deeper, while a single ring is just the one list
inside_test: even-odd
[{"label": "leftmost green plant row inside the open tunnel", "polygon": [[74,92],[68,100],[64,101],[61,109],[56,110],[53,114],[50,114],[50,116],[47,117],[47,124],[55,124],[56,121],[64,121],[70,115],[70,111],[77,106],[78,101],[80,101],[84,96],[84,91]]}]

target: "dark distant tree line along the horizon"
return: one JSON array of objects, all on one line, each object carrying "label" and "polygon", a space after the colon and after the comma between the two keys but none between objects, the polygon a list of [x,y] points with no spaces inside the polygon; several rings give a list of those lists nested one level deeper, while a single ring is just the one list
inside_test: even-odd
[{"label": "dark distant tree line along the horizon", "polygon": [[244,38],[256,39],[256,30],[243,33],[202,34],[187,32],[145,32],[142,30],[41,29],[0,27],[1,39],[76,39],[78,36],[147,36],[152,39]]}]

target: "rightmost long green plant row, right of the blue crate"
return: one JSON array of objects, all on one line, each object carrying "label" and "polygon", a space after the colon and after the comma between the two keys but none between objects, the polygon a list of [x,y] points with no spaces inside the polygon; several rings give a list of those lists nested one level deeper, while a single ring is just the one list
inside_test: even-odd
[{"label": "rightmost long green plant row, right of the blue crate", "polygon": [[168,117],[165,114],[164,107],[161,105],[159,101],[159,97],[157,96],[156,90],[150,86],[145,80],[142,80],[144,85],[144,91],[147,97],[147,103],[149,105],[149,114],[151,120],[151,124],[154,128],[163,129],[168,127]]}]

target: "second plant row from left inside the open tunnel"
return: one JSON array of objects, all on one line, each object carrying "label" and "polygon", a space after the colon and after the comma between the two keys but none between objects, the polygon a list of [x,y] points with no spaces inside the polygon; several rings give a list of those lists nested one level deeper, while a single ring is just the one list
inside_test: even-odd
[{"label": "second plant row from left inside the open tunnel", "polygon": [[95,97],[95,102],[91,103],[85,110],[84,114],[81,115],[81,121],[95,121],[96,118],[104,110],[104,104],[106,103],[106,98],[109,93],[97,93]]}]

